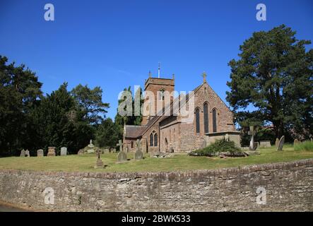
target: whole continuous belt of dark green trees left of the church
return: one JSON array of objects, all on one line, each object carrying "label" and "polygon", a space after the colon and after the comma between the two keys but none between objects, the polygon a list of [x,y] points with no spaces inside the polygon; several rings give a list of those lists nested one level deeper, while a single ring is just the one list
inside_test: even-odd
[{"label": "whole continuous belt of dark green trees left of the church", "polygon": [[100,87],[78,85],[69,92],[63,83],[44,96],[41,86],[30,69],[0,56],[0,155],[19,155],[22,148],[36,155],[48,146],[77,153],[96,135],[98,143],[117,143],[112,120],[102,123],[109,105],[102,102]]}]

